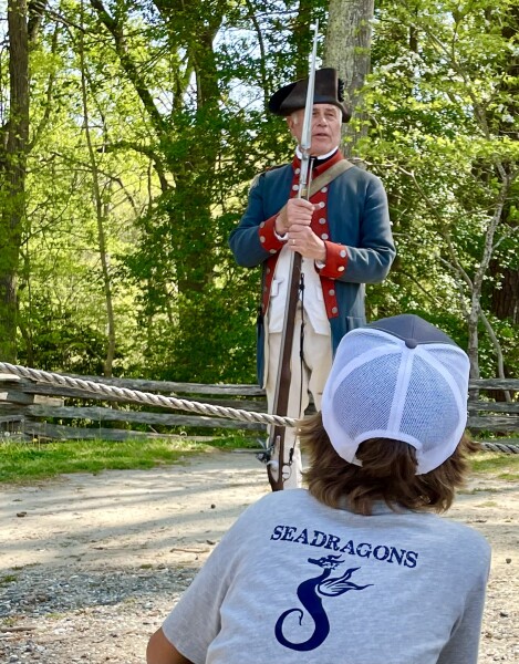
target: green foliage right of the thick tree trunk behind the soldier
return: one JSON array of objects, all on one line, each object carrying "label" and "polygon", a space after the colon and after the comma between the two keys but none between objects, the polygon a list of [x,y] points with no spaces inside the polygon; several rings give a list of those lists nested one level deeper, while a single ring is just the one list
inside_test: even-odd
[{"label": "green foliage right of the thick tree trunk behind the soldier", "polygon": [[[467,347],[470,310],[481,305],[511,373],[507,334],[517,336],[519,319],[511,302],[510,313],[494,311],[492,295],[519,255],[518,28],[506,1],[383,2],[364,91],[370,132],[356,146],[390,199],[398,258],[386,309],[422,312]],[[478,331],[476,361],[495,375],[496,349]]]}]

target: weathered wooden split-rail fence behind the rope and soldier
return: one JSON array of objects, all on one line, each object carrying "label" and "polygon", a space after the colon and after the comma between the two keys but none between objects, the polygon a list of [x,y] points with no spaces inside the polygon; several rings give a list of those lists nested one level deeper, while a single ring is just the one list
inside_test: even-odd
[{"label": "weathered wooden split-rail fence behind the rope and soldier", "polygon": [[[177,408],[143,405],[132,398],[135,392],[222,409],[267,413],[264,391],[257,385],[72,376],[24,370],[37,374],[37,377],[28,377],[23,371],[18,375],[18,370],[23,367],[14,366],[12,371],[17,373],[0,373],[0,437],[17,433],[39,439],[124,440],[178,437],[179,433],[199,434],[200,429],[211,429],[212,435],[221,429],[241,429],[264,437],[267,424],[261,422],[186,414]],[[40,380],[38,374],[45,380]],[[54,382],[53,376],[69,382]],[[107,386],[108,393],[100,394],[97,385]],[[471,381],[469,387],[468,428],[473,435],[481,437],[482,434],[484,438],[488,435],[490,440],[499,436],[512,446],[519,445],[519,380],[477,380]],[[115,393],[110,392],[111,388]],[[508,401],[502,401],[505,393]]]}]

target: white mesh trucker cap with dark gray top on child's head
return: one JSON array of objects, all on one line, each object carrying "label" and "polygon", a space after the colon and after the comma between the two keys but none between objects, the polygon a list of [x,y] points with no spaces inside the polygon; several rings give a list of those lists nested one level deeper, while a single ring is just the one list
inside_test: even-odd
[{"label": "white mesh trucker cap with dark gray top on child's head", "polygon": [[413,314],[375,321],[339,344],[322,397],[322,421],[340,457],[361,466],[359,445],[392,438],[416,449],[416,474],[440,466],[467,424],[469,360]]}]

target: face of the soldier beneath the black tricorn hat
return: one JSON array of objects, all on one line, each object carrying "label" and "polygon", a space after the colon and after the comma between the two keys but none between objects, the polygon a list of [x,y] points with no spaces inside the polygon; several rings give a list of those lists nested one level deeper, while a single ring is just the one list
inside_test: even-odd
[{"label": "face of the soldier beneath the black tricorn hat", "polygon": [[[287,117],[290,133],[301,144],[304,108]],[[332,152],[341,142],[342,115],[333,104],[314,104],[312,111],[312,145],[310,154],[319,157]]]}]

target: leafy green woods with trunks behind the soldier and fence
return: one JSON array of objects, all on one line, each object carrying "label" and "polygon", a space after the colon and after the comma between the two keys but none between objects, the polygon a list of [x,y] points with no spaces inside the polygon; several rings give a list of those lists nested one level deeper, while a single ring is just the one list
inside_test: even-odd
[{"label": "leafy green woods with trunks behind the soldier and fence", "polygon": [[508,1],[2,0],[0,354],[49,371],[252,382],[259,273],[227,236],[291,156],[266,114],[321,60],[398,259],[371,315],[446,328],[473,377],[519,365],[519,10]]}]

